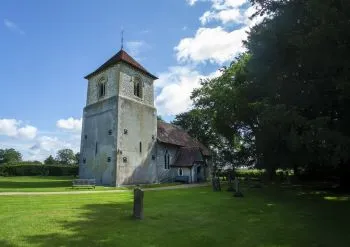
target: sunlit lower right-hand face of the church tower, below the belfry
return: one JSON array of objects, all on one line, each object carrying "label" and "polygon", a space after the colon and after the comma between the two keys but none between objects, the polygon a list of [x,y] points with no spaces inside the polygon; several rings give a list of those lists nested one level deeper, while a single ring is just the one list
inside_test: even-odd
[{"label": "sunlit lower right-hand face of the church tower, below the belfry", "polygon": [[157,182],[152,160],[157,136],[156,117],[154,107],[119,96],[117,184]]}]

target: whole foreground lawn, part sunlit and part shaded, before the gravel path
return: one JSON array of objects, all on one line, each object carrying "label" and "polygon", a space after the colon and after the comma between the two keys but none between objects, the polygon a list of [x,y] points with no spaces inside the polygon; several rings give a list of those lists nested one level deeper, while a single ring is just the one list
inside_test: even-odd
[{"label": "whole foreground lawn, part sunlit and part shaded, before the gravel path", "polygon": [[300,188],[209,187],[145,192],[145,219],[132,194],[0,197],[0,246],[350,246],[346,195]]}]

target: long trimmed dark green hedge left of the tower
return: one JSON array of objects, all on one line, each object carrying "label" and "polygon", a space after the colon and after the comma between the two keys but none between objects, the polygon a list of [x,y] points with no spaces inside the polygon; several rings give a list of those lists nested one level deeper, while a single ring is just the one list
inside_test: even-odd
[{"label": "long trimmed dark green hedge left of the tower", "polygon": [[77,165],[3,164],[0,176],[77,176]]}]

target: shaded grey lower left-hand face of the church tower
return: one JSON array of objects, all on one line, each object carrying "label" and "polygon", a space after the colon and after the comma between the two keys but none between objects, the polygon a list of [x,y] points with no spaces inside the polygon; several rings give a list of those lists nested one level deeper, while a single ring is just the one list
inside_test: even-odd
[{"label": "shaded grey lower left-hand face of the church tower", "polygon": [[79,177],[115,186],[117,98],[84,108]]}]

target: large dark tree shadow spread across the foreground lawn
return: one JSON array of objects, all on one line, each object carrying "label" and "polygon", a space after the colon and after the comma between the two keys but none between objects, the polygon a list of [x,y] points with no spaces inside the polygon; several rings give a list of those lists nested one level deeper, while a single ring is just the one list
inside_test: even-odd
[{"label": "large dark tree shadow spread across the foreground lawn", "polygon": [[147,192],[143,221],[131,218],[131,198],[85,204],[77,220],[54,222],[59,232],[24,241],[39,247],[350,246],[348,201],[275,187],[244,194],[237,199],[209,189]]}]

